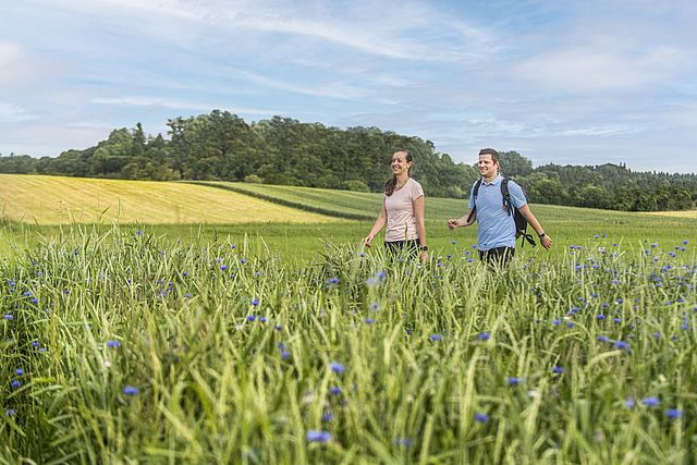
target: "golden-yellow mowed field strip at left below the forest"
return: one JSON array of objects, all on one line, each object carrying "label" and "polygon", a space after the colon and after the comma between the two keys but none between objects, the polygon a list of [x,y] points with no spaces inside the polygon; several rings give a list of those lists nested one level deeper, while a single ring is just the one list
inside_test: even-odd
[{"label": "golden-yellow mowed field strip at left below the forest", "polygon": [[0,174],[0,211],[10,221],[37,224],[339,221],[200,185],[28,174]]}]

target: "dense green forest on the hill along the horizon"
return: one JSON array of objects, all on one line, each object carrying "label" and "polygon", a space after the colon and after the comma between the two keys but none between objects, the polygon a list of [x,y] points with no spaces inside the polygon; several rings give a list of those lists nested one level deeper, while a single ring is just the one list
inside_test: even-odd
[{"label": "dense green forest on the hill along the horizon", "polygon": [[[392,152],[409,150],[414,178],[427,195],[466,197],[478,176],[433,144],[377,127],[341,130],[273,117],[252,124],[227,111],[175,118],[168,136],[140,123],[59,157],[0,156],[1,173],[62,174],[127,180],[222,180],[380,192]],[[624,166],[547,164],[534,168],[516,151],[501,154],[501,172],[534,203],[629,211],[680,210],[697,204],[697,175],[632,172]],[[473,161],[476,154],[473,154]]]}]

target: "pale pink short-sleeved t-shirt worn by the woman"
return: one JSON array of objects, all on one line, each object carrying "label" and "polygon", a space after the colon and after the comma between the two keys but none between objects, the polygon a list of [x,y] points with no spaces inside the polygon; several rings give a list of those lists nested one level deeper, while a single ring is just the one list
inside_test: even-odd
[{"label": "pale pink short-sleeved t-shirt worn by the woman", "polygon": [[384,196],[384,209],[388,212],[388,224],[384,234],[387,242],[411,241],[418,238],[414,200],[424,195],[421,185],[409,178],[401,189],[391,196]]}]

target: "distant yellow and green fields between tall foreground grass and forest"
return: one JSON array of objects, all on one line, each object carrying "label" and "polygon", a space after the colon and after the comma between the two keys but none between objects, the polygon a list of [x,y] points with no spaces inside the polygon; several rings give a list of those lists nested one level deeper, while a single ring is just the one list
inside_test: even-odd
[{"label": "distant yellow and green fields between tall foreground grass and forest", "polygon": [[[173,241],[247,244],[254,254],[317,257],[327,244],[360,244],[380,209],[380,194],[242,183],[158,183],[29,175],[0,175],[0,254],[61,236],[61,224],[132,224]],[[234,188],[230,192],[224,188]],[[264,200],[240,192],[264,195]],[[280,205],[281,201],[286,205]],[[297,208],[288,207],[292,203]],[[298,209],[302,208],[302,209]],[[426,229],[433,254],[461,254],[476,243],[476,228],[449,231],[448,218],[464,215],[464,199],[427,198]],[[305,211],[303,211],[303,209]],[[106,211],[105,211],[106,210]],[[318,215],[326,211],[335,218]],[[619,249],[649,243],[694,241],[697,218],[587,208],[533,205],[555,246],[550,253],[524,247],[524,256],[561,256],[570,245],[617,244]],[[101,212],[105,211],[103,215]],[[346,216],[363,218],[346,220]],[[8,223],[7,220],[10,220]],[[136,225],[137,223],[137,225]],[[74,233],[82,235],[82,232]],[[378,237],[378,243],[382,236]],[[376,247],[374,247],[376,248]],[[377,247],[380,248],[380,247]]]}]

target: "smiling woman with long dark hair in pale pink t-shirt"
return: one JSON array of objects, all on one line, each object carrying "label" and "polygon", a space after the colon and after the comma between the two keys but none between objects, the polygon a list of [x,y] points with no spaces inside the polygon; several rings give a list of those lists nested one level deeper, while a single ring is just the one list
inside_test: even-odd
[{"label": "smiling woman with long dark hair in pale pink t-shirt", "polygon": [[424,188],[411,176],[414,157],[406,150],[392,156],[392,179],[384,184],[382,210],[375,220],[365,245],[387,224],[384,245],[391,254],[404,250],[408,255],[428,259],[426,225],[424,222]]}]

